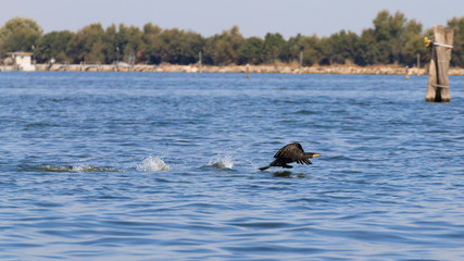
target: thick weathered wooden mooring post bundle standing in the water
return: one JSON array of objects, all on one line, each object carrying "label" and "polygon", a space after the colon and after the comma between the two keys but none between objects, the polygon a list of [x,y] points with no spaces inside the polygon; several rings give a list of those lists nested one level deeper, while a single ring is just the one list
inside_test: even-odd
[{"label": "thick weathered wooden mooring post bundle standing in the water", "polygon": [[451,60],[451,49],[453,48],[453,30],[444,28],[442,25],[434,26],[434,40],[424,39],[430,49],[430,66],[428,70],[428,85],[426,101],[449,102],[450,80],[448,69]]}]

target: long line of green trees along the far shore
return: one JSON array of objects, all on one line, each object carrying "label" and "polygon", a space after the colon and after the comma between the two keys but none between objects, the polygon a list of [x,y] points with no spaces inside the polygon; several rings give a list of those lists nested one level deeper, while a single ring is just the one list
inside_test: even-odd
[{"label": "long line of green trees along the far shore", "polygon": [[[204,64],[273,64],[294,63],[303,53],[303,65],[313,64],[403,64],[413,65],[421,54],[428,59],[424,36],[432,36],[432,28],[423,30],[415,20],[401,12],[380,11],[374,27],[361,35],[340,30],[329,37],[298,34],[286,40],[278,33],[264,38],[244,38],[237,26],[222,34],[203,37],[190,30],[163,29],[148,23],[143,28],[126,25],[90,24],[77,33],[70,30],[43,34],[30,18],[14,17],[0,28],[0,57],[7,52],[29,51],[39,63],[52,58],[60,63],[129,63],[193,64],[202,52]],[[464,66],[464,16],[448,21],[454,30],[451,65]]]}]

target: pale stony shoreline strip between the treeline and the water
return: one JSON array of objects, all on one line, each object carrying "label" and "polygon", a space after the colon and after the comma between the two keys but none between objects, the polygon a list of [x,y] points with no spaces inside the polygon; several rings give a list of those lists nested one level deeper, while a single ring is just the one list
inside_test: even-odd
[{"label": "pale stony shoreline strip between the treeline and the water", "polygon": [[[0,70],[10,71],[10,70]],[[151,72],[151,73],[247,73],[247,65],[114,65],[114,64],[36,64],[36,71],[50,72]],[[374,75],[405,75],[406,67],[399,65],[313,65],[298,67],[289,64],[278,65],[249,65],[249,72],[255,73],[277,73],[277,74],[374,74]],[[427,75],[428,66],[407,69],[409,75]],[[450,67],[449,75],[464,75],[464,69]]]}]

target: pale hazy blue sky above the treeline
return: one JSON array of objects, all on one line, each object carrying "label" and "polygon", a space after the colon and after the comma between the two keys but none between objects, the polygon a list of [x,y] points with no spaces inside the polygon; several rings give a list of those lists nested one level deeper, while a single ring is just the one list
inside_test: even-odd
[{"label": "pale hazy blue sky above the treeline", "polygon": [[104,27],[123,23],[142,27],[151,22],[162,28],[177,27],[203,36],[220,34],[234,25],[243,36],[280,33],[286,38],[329,36],[340,29],[360,34],[373,27],[378,11],[401,11],[425,28],[464,16],[464,0],[0,0],[0,25],[14,16],[34,18],[45,33],[77,32],[90,23]]}]

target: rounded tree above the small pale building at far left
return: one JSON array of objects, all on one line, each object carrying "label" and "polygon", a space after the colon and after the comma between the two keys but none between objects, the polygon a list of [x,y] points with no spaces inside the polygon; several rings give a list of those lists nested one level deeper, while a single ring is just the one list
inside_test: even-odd
[{"label": "rounded tree above the small pale building at far left", "polygon": [[33,51],[42,28],[32,18],[14,17],[0,28],[0,52]]}]

